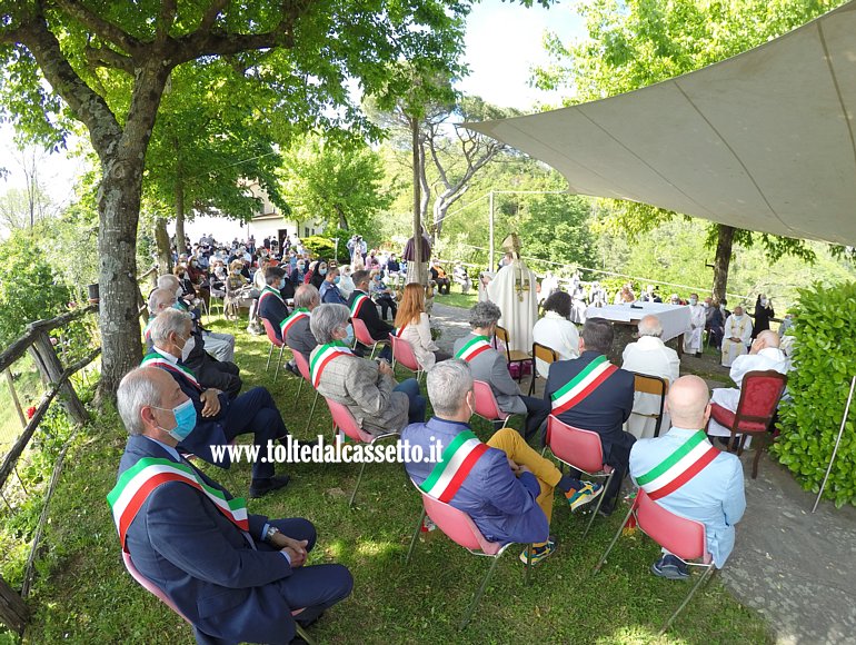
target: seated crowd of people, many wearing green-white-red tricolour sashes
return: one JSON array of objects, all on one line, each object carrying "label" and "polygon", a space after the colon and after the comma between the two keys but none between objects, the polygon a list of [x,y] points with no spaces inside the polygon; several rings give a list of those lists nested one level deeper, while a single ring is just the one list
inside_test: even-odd
[{"label": "seated crowd of people, many wearing green-white-red tricolour sashes", "polygon": [[[624,348],[619,367],[609,359],[611,324],[589,318],[578,328],[571,321],[577,296],[556,290],[546,296],[532,337],[557,359],[537,361],[537,376],[546,385],[543,396],[528,396],[511,378],[497,344],[502,317],[497,305],[480,301],[471,308],[470,331],[455,340],[452,357],[432,339],[425,287],[409,284],[396,298],[384,281],[385,271],[400,268],[395,256],[381,265],[358,236],[349,245],[355,260],[361,258],[359,268],[310,261],[299,240],[293,248],[290,240],[282,245],[281,255],[271,239],[258,250],[253,240],[236,240],[226,254],[203,238],[149,296],[148,351],[118,393],[129,438],[109,499],[126,555],[188,618],[200,642],[289,643],[296,622],[312,623],[352,586],[344,566],[303,566],[317,539],[310,522],[249,514],[243,499],[188,460],[196,456],[229,468],[228,453],[220,458],[212,448],[241,435],[251,435],[262,452],[269,441],[289,441],[271,394],[265,387],[241,394],[233,336],[201,325],[202,298],[237,297],[245,285],[257,291],[250,319],[258,316],[270,340],[291,350],[289,371],[305,374],[369,435],[399,433],[426,454],[439,444],[439,458],[407,463],[407,475],[422,493],[465,512],[488,540],[530,545],[520,554],[522,562],[540,563],[557,549],[550,529],[557,490],[571,510],[600,498],[598,513],[608,516],[631,480],[666,509],[701,522],[714,564],[723,566],[746,502],[738,457],[714,447],[708,437],[730,436],[729,428],[710,420],[711,404],[733,413],[748,371],[786,374],[789,361],[779,349],[779,336],[768,328],[753,335],[739,306],[725,316],[710,301],[705,306],[690,298],[693,339],[685,350],[700,350],[707,330],[711,343],[721,344],[736,385],[715,389],[711,398],[704,380],[679,376],[680,359],[664,343],[656,316],[639,321],[638,340]],[[256,254],[259,268],[250,276]],[[437,274],[438,286],[439,278],[445,274]],[[203,295],[203,286],[210,296]],[[624,291],[623,299],[633,298],[629,288]],[[644,297],[658,299],[650,289]],[[386,320],[388,310],[395,327]],[[758,299],[756,320],[758,311],[762,318],[772,317],[766,298]],[[390,335],[410,345],[427,374],[429,419],[419,381],[395,378]],[[661,431],[651,418],[660,399],[636,391],[637,374],[666,384]],[[504,425],[485,443],[476,436],[470,426],[476,381],[486,384],[502,414],[524,417],[520,431]],[[597,434],[604,468],[613,473],[606,487],[581,479],[573,468],[564,473],[543,456],[548,417]],[[258,460],[249,497],[268,495],[288,482],[288,475],[276,474],[275,464]],[[686,563],[670,553],[651,570],[671,579],[688,576]],[[211,603],[201,603],[209,597]]]}]

